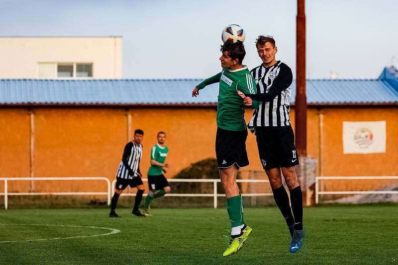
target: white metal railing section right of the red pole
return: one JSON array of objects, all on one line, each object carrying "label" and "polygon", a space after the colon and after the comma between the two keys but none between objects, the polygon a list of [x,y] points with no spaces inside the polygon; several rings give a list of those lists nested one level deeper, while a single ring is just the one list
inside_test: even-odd
[{"label": "white metal railing section right of the red pole", "polygon": [[315,204],[319,202],[319,195],[326,194],[398,194],[398,191],[319,191],[319,180],[398,180],[398,176],[382,177],[315,177]]}]

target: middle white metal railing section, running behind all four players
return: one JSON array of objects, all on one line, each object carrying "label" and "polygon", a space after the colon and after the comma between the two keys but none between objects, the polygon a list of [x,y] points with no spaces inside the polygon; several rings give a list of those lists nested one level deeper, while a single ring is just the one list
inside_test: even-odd
[{"label": "middle white metal railing section, running behind all four players", "polygon": [[[148,179],[142,179],[142,181],[148,181]],[[213,207],[217,208],[217,197],[224,197],[224,194],[217,193],[217,183],[221,182],[219,179],[167,179],[168,182],[208,182],[213,183],[213,193],[168,193],[166,196],[169,197],[213,197]],[[269,180],[246,180],[238,179],[238,183],[269,183]],[[112,196],[114,194],[116,180],[112,181]],[[146,195],[146,194],[144,194]],[[272,193],[245,193],[242,194],[243,197],[248,196],[272,196]],[[120,196],[135,196],[135,193],[122,193]]]}]

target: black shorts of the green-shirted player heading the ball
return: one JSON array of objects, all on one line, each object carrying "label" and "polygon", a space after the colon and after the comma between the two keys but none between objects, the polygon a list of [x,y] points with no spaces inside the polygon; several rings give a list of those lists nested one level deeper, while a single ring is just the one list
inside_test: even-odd
[{"label": "black shorts of the green-shirted player heading the ball", "polygon": [[238,168],[249,165],[246,138],[247,130],[236,132],[217,128],[215,155],[218,168],[228,168],[234,164]]}]

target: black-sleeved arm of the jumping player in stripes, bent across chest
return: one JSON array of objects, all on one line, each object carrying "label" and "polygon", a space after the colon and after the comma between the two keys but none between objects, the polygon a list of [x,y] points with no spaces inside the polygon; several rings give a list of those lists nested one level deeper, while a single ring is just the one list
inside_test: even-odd
[{"label": "black-sleeved arm of the jumping player in stripes, bent across chest", "polygon": [[275,77],[267,93],[249,94],[244,93],[246,97],[258,101],[272,101],[281,91],[288,88],[293,82],[293,73],[289,66],[281,66],[279,74]]}]

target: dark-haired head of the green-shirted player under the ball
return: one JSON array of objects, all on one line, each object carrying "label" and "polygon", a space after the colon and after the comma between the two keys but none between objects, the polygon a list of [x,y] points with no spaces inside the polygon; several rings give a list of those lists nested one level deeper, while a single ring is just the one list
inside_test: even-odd
[{"label": "dark-haired head of the green-shirted player under the ball", "polygon": [[227,41],[221,45],[220,51],[222,53],[220,57],[222,68],[242,65],[246,55],[245,46],[242,42],[232,43],[231,41]]}]

